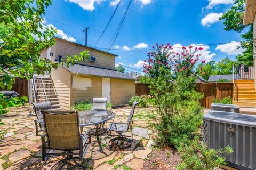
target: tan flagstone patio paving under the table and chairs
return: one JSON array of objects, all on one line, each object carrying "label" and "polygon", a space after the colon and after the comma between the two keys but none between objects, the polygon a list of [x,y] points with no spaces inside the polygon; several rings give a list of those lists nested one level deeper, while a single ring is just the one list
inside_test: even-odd
[{"label": "tan flagstone patio paving under the table and chairs", "polygon": [[[0,141],[0,169],[50,169],[61,157],[41,159],[41,137],[35,136],[34,119],[29,115],[29,106],[9,109],[9,113],[0,118],[6,129],[4,139]],[[129,115],[131,107],[112,109],[116,115]],[[143,169],[145,159],[154,145],[154,133],[148,131],[147,114],[154,114],[154,108],[138,108],[134,115],[133,143],[122,151],[111,151],[108,148],[109,137],[102,136],[103,153],[99,152],[95,137],[85,155],[87,169]],[[115,121],[122,121],[115,119]],[[143,137],[141,137],[143,136]]]}]

